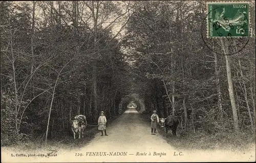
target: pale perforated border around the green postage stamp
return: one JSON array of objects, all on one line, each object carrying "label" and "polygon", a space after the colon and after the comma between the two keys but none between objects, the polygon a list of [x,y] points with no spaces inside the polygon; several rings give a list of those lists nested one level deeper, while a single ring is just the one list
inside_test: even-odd
[{"label": "pale perforated border around the green postage stamp", "polygon": [[[253,27],[252,27],[252,25],[251,25],[251,22],[250,22],[250,16],[251,16],[251,12],[250,12],[250,8],[251,8],[251,6],[252,6],[252,2],[253,0],[248,0],[248,1],[207,1],[206,2],[206,14],[207,14],[207,16],[206,16],[206,38],[212,38],[212,39],[216,39],[216,38],[225,38],[225,37],[209,37],[209,28],[208,28],[208,4],[245,4],[245,3],[248,3],[248,5],[249,5],[249,9],[248,9],[248,17],[247,17],[247,19],[248,19],[248,23],[249,23],[249,25],[248,25],[248,28],[249,28],[249,35],[248,35],[248,37],[253,37],[252,36],[252,29],[253,29]],[[255,4],[254,4],[255,5]],[[255,31],[255,29],[254,29],[254,31]],[[255,37],[255,36],[254,36]],[[236,36],[235,38],[243,38],[243,36]]]}]

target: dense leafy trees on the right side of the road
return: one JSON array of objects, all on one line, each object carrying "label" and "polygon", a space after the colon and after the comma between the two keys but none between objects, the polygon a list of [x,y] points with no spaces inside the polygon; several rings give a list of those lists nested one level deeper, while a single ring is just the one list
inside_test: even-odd
[{"label": "dense leafy trees on the right side of the road", "polygon": [[[206,35],[201,27],[206,24],[205,2],[138,3],[123,46],[146,110],[156,109],[161,117],[178,115],[185,131],[236,130],[225,57],[207,48],[212,39],[203,41],[201,36]],[[255,37],[240,53],[229,56],[239,129],[251,133],[255,130],[254,44]]]}]

